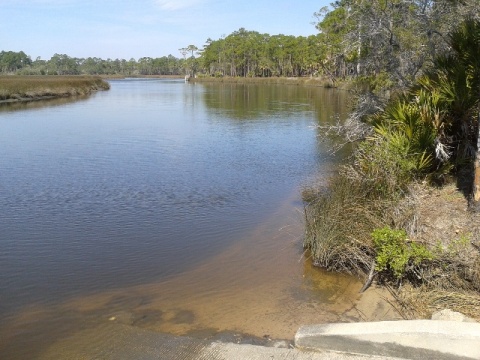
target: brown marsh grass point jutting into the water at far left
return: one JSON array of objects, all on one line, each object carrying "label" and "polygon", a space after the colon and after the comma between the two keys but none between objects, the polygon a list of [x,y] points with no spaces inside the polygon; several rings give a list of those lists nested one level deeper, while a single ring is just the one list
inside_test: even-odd
[{"label": "brown marsh grass point jutting into the water at far left", "polygon": [[88,95],[109,88],[93,76],[0,76],[0,102]]}]

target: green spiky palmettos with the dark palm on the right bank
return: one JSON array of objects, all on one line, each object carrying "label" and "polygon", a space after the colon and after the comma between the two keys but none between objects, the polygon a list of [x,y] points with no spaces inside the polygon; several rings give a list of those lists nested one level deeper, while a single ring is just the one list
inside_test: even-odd
[{"label": "green spiky palmettos with the dark palm on the right bank", "polygon": [[[450,35],[452,51],[437,57],[404,95],[367,119],[375,136],[403,160],[402,177],[469,166],[477,151],[480,103],[480,22]],[[376,142],[379,140],[376,139]]]}]

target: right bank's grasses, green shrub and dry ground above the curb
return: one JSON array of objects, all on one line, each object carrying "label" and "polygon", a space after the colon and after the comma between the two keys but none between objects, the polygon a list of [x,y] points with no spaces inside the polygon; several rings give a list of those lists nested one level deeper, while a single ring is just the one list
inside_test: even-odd
[{"label": "right bank's grasses, green shrub and dry ground above the curb", "polygon": [[480,320],[480,214],[469,208],[468,169],[442,184],[411,179],[411,160],[390,144],[365,140],[327,184],[304,191],[307,253],[389,289],[405,319],[449,308]]}]

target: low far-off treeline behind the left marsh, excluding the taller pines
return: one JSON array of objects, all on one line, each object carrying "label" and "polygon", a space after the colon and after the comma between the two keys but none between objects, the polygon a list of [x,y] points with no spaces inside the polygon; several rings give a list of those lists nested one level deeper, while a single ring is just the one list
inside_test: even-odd
[{"label": "low far-off treeline behind the left marsh, excluding the taller pines", "polygon": [[74,58],[55,54],[50,60],[32,60],[23,51],[0,52],[0,73],[19,75],[181,75],[185,59],[173,55],[161,58],[143,57],[138,60],[97,57]]}]

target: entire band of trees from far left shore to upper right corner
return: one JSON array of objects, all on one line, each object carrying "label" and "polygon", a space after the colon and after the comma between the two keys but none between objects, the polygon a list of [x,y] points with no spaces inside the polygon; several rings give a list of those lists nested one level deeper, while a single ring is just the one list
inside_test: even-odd
[{"label": "entire band of trees from far left shore to upper right corner", "polygon": [[[478,19],[478,0],[337,0],[314,14],[316,34],[269,35],[240,28],[179,57],[138,60],[55,54],[32,60],[23,51],[0,52],[0,73],[23,75],[196,75],[300,77],[332,81],[363,78],[373,87],[404,88],[449,51],[448,33]],[[315,32],[315,30],[313,31]]]}]

